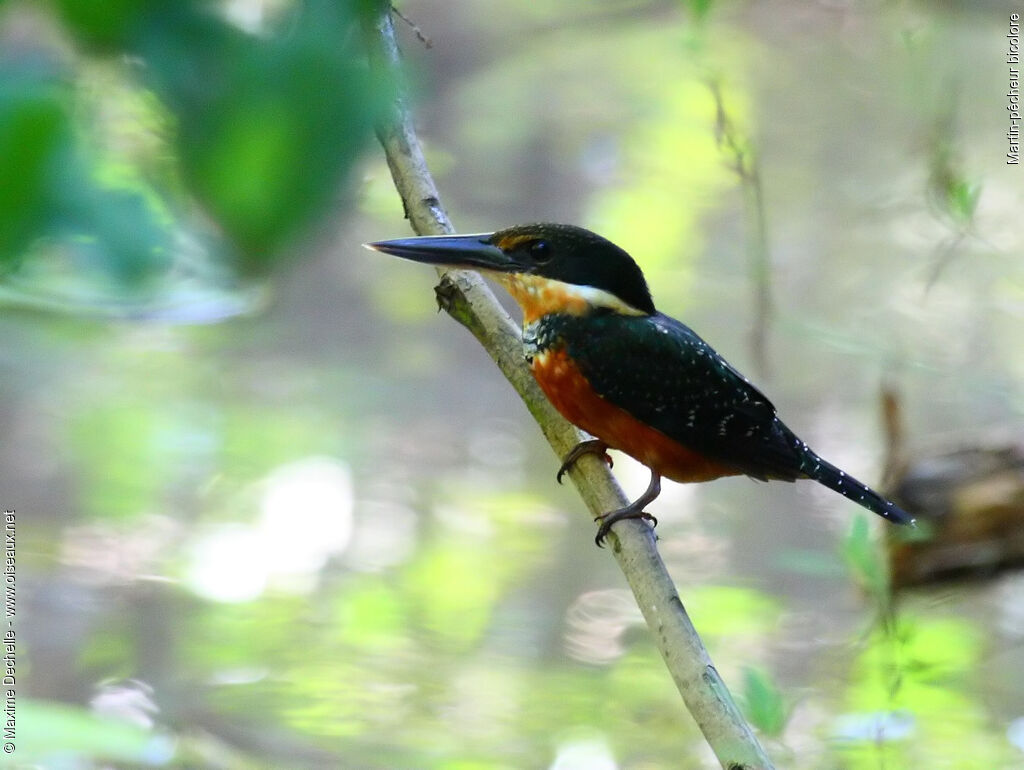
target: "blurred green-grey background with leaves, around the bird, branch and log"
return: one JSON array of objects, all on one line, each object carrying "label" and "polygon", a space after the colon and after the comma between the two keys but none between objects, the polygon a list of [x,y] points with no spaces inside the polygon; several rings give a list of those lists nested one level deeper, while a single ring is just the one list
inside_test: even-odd
[{"label": "blurred green-grey background with leaves, around the bird, branch and log", "polygon": [[[0,4],[0,763],[714,765],[434,273],[359,247],[409,233],[366,5]],[[400,9],[460,230],[615,241],[865,481],[1019,441],[1011,4]],[[650,510],[779,767],[1024,765],[1020,573],[894,593],[884,522],[809,483]]]}]

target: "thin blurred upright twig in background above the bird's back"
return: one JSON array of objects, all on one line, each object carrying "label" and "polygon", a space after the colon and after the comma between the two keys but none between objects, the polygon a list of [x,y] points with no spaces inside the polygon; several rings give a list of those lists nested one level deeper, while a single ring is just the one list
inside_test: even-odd
[{"label": "thin blurred upright twig in background above the bird's back", "polygon": [[743,136],[726,109],[722,86],[717,78],[707,81],[715,99],[715,140],[726,156],[729,168],[739,177],[746,209],[746,251],[754,288],[754,322],[751,329],[751,353],[758,372],[767,376],[768,332],[773,308],[771,299],[771,255],[768,251],[768,226],[765,220],[761,164],[754,143]]}]

